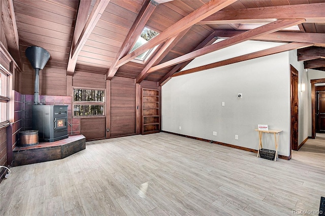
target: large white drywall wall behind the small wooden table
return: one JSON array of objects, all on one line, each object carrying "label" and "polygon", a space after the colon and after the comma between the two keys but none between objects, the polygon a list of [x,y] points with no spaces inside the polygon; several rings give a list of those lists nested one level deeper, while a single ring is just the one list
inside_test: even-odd
[{"label": "large white drywall wall behind the small wooden table", "polygon": [[[248,41],[216,51],[208,55],[208,61],[238,56],[238,51],[242,50],[250,53],[256,48],[262,50],[278,45]],[[187,68],[206,63],[206,58],[194,59]],[[162,129],[257,149],[258,133],[254,129],[257,124],[267,124],[270,129],[283,130],[279,154],[288,156],[288,59],[288,52],[284,52],[172,78],[162,87]],[[238,93],[243,94],[242,99],[238,99]],[[221,106],[221,102],[225,102],[225,106]],[[213,131],[217,136],[213,136]],[[264,135],[263,141],[264,148],[274,149],[271,134]]]}]

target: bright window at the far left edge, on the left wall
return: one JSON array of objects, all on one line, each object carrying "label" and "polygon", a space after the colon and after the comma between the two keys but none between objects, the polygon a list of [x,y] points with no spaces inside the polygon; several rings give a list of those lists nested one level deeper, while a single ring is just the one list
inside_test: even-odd
[{"label": "bright window at the far left edge, on the left wall", "polygon": [[9,105],[9,77],[3,70],[0,69],[0,124],[7,123],[8,118],[8,105]]}]

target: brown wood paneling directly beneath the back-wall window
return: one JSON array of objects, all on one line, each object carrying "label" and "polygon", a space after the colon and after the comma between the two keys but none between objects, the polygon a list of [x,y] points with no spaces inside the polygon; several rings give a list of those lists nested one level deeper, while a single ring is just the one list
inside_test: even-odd
[{"label": "brown wood paneling directly beneath the back-wall window", "polygon": [[81,118],[80,133],[86,140],[105,138],[105,117]]}]

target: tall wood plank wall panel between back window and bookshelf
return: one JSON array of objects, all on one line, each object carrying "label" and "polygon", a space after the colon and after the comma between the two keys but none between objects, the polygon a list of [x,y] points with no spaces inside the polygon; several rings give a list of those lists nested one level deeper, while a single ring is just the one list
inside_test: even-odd
[{"label": "tall wood plank wall panel between back window and bookshelf", "polygon": [[136,85],[134,79],[111,80],[111,137],[136,134]]}]

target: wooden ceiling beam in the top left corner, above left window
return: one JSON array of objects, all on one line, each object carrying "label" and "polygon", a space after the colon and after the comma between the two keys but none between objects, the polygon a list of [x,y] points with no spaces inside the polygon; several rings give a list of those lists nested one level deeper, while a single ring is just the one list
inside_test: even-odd
[{"label": "wooden ceiling beam in the top left corner, above left window", "polygon": [[22,68],[13,2],[12,0],[2,0],[0,4],[2,4],[2,24],[7,39],[8,51],[18,66]]}]

